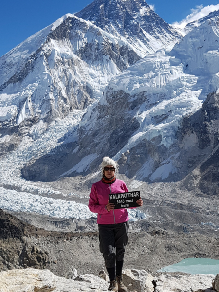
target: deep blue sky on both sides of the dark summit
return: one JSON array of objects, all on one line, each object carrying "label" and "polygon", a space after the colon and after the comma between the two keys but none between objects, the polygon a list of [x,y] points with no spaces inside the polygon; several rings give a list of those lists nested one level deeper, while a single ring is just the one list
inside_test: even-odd
[{"label": "deep blue sky on both sides of the dark summit", "polygon": [[[0,7],[0,56],[27,37],[50,25],[66,13],[80,11],[93,0],[2,0]],[[195,20],[214,8],[219,0],[148,0],[166,22]],[[217,5],[217,6],[213,6]],[[186,17],[189,16],[187,19]],[[200,18],[200,17],[199,17]]]}]

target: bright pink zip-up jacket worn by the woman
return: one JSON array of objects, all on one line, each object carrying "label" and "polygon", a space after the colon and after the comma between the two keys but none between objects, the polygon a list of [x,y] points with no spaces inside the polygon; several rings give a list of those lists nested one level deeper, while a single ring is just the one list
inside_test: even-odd
[{"label": "bright pink zip-up jacket worn by the woman", "polygon": [[98,224],[117,224],[129,220],[127,209],[116,209],[108,212],[105,208],[109,194],[125,192],[128,192],[126,184],[118,179],[112,184],[99,181],[92,185],[88,207],[91,212],[98,213]]}]

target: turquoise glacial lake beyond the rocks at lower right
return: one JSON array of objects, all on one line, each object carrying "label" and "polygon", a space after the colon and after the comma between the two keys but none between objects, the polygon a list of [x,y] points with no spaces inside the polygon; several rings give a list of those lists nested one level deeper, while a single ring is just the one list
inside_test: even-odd
[{"label": "turquoise glacial lake beyond the rocks at lower right", "polygon": [[185,272],[189,274],[219,274],[219,260],[211,258],[185,258],[177,264],[164,267],[157,272]]}]

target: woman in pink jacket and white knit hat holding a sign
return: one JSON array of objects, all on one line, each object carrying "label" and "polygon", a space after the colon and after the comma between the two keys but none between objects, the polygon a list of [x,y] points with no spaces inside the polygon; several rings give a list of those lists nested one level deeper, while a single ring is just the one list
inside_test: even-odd
[{"label": "woman in pink jacket and white knit hat holding a sign", "polygon": [[[126,184],[116,179],[116,163],[110,157],[104,157],[102,162],[103,177],[91,187],[89,209],[98,213],[100,252],[103,254],[105,266],[110,276],[108,290],[127,292],[122,281],[125,246],[128,243],[128,212],[127,209],[115,209],[109,203],[109,194],[128,192]],[[136,201],[143,205],[142,199]]]}]

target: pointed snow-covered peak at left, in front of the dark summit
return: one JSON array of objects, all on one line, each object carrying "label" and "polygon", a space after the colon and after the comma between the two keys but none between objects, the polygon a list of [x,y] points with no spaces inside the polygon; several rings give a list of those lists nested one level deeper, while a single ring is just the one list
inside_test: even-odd
[{"label": "pointed snow-covered peak at left, in front of the dark summit", "polygon": [[51,121],[84,109],[113,75],[140,59],[131,45],[89,22],[73,15],[57,22],[0,59],[2,122]]}]

